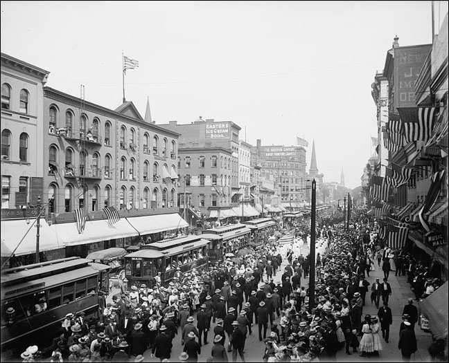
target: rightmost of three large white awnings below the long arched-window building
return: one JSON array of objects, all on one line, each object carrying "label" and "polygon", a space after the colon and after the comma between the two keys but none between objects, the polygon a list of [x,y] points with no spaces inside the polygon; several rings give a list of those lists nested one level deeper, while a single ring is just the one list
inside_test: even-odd
[{"label": "rightmost of three large white awnings below the long arched-window building", "polygon": [[132,227],[139,231],[140,234],[164,232],[188,227],[188,223],[177,213],[157,214],[155,216],[140,216],[126,219]]}]

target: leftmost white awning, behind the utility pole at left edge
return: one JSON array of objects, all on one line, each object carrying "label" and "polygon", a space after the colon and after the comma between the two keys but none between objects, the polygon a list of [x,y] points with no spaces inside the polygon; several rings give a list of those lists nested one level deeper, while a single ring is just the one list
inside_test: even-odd
[{"label": "leftmost white awning, behind the utility pole at left edge", "polygon": [[[36,253],[36,224],[32,225],[35,219],[30,220],[30,224],[25,219],[13,219],[1,221],[1,256],[9,257],[15,250],[15,256]],[[46,223],[44,218],[39,221],[39,251],[56,250],[65,246],[58,241],[53,226]],[[29,231],[28,231],[29,230]],[[27,233],[28,231],[28,233]],[[24,237],[25,236],[25,237]],[[24,238],[24,241],[20,240]],[[20,245],[19,245],[20,243]]]}]

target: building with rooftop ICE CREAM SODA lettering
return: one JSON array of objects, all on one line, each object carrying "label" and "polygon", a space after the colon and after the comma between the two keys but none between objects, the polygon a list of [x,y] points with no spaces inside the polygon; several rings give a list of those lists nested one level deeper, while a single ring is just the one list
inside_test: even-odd
[{"label": "building with rooftop ICE CREAM SODA lettering", "polygon": [[[191,203],[209,216],[211,208],[230,208],[240,189],[238,151],[240,127],[234,122],[215,122],[200,117],[191,124],[170,121],[159,124],[179,133],[179,182],[191,176]],[[213,180],[216,180],[213,181]],[[182,187],[182,184],[180,185]],[[216,206],[212,205],[216,203]]]}]

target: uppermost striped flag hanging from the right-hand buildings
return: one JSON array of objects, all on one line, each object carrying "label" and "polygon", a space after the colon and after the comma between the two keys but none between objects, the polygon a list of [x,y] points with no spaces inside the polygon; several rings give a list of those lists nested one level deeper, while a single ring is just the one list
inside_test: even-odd
[{"label": "uppermost striped flag hanging from the right-hand buildings", "polygon": [[429,140],[439,107],[400,107],[398,112],[407,142]]}]

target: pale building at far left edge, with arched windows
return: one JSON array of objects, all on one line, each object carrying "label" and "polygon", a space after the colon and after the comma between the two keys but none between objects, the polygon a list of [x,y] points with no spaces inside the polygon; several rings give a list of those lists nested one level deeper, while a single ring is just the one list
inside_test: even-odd
[{"label": "pale building at far left edge, with arched windows", "polygon": [[49,71],[1,53],[2,217],[17,214],[28,203],[37,205],[44,190],[41,145],[48,75]]}]

